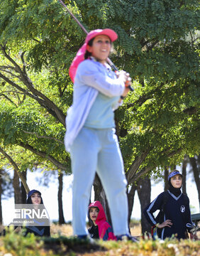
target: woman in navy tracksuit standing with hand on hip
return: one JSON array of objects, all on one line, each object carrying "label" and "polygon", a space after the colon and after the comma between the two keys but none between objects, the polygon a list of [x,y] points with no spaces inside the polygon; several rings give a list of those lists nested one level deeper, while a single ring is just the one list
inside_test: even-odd
[{"label": "woman in navy tracksuit standing with hand on hip", "polygon": [[[191,222],[191,213],[189,209],[189,198],[181,191],[182,174],[174,170],[168,176],[169,190],[160,193],[143,211],[145,218],[152,226],[160,229],[158,237],[161,239],[171,238],[174,235],[178,239],[188,238],[187,223]],[[164,203],[165,201],[165,203]],[[157,220],[153,213],[156,210],[163,209],[163,219]],[[191,235],[192,236],[192,235]]]}]

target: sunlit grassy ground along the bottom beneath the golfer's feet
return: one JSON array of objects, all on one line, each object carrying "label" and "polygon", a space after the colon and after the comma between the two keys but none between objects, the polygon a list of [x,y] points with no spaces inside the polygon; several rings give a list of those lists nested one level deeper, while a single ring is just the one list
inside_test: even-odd
[{"label": "sunlit grassy ground along the bottom beneath the golfer's feet", "polygon": [[[131,234],[140,236],[138,223],[132,223]],[[72,236],[71,225],[51,226],[51,238],[7,233],[0,237],[0,256],[199,256],[200,240],[89,241]]]}]

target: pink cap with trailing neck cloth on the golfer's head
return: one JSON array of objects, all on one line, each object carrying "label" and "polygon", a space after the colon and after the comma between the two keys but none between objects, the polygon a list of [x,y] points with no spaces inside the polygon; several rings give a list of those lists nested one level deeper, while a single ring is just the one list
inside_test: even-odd
[{"label": "pink cap with trailing neck cloth on the golfer's head", "polygon": [[79,63],[81,63],[84,60],[84,54],[86,53],[88,42],[92,38],[99,36],[99,35],[109,36],[109,38],[111,39],[112,42],[116,41],[116,39],[118,38],[116,32],[110,28],[95,29],[93,31],[90,31],[87,34],[87,37],[85,38],[84,45],[81,48],[79,48],[76,57],[74,58],[74,60],[72,61],[72,64],[70,65],[69,74],[70,74],[70,78],[72,79],[72,82],[74,82],[74,77],[76,75]]}]

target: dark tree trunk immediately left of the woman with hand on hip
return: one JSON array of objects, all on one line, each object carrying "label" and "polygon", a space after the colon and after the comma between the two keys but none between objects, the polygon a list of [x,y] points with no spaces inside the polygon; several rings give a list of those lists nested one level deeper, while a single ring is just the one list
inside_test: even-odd
[{"label": "dark tree trunk immediately left of the woman with hand on hip", "polygon": [[145,178],[140,178],[138,180],[138,197],[140,200],[140,209],[141,209],[141,226],[142,226],[142,233],[151,232],[151,225],[146,220],[143,210],[148,204],[150,203],[150,193],[151,193],[151,183],[150,178],[146,176]]}]

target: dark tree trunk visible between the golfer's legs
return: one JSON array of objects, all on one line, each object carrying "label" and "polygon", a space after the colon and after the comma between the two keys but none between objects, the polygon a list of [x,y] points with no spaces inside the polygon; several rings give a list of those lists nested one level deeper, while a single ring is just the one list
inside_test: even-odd
[{"label": "dark tree trunk visible between the golfer's legs", "polygon": [[94,186],[94,201],[101,202],[101,205],[103,206],[104,211],[106,213],[106,220],[112,225],[109,203],[107,201],[106,193],[101,184],[101,180],[98,174],[95,175],[93,186]]}]

